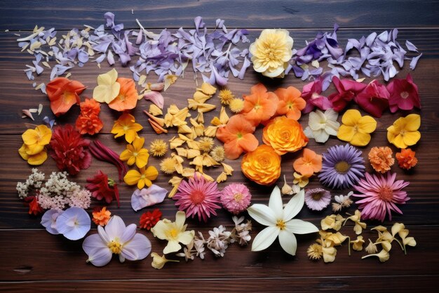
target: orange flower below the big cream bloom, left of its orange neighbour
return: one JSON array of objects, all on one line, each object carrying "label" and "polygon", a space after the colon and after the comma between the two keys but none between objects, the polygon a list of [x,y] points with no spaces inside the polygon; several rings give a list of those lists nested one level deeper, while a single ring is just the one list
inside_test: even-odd
[{"label": "orange flower below the big cream bloom, left of its orange neighbour", "polygon": [[257,126],[268,121],[275,113],[278,97],[271,91],[266,91],[264,84],[257,84],[250,89],[250,95],[244,95],[244,108],[241,114],[245,119]]}]

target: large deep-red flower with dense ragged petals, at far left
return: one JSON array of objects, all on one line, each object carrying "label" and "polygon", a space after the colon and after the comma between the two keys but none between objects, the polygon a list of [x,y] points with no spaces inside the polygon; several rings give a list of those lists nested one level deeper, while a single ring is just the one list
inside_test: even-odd
[{"label": "large deep-red flower with dense ragged petals, at far left", "polygon": [[71,124],[55,128],[50,139],[51,156],[61,171],[76,175],[81,169],[90,167],[91,155],[86,148],[90,141],[83,139]]}]

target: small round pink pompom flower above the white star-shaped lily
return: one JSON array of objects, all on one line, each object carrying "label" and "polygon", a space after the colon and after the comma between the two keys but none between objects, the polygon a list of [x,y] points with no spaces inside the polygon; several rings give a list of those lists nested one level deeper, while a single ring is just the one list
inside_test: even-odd
[{"label": "small round pink pompom flower above the white star-shaped lily", "polygon": [[232,214],[239,214],[247,209],[251,199],[250,191],[241,183],[227,185],[221,194],[222,206]]}]

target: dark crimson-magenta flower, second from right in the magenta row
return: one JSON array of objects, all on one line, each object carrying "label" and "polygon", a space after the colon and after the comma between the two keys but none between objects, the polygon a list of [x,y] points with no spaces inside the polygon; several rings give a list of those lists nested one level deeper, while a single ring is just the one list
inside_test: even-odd
[{"label": "dark crimson-magenta flower, second from right in the magenta row", "polygon": [[386,86],[374,79],[358,93],[354,100],[363,110],[379,118],[389,107],[389,97],[390,93]]}]

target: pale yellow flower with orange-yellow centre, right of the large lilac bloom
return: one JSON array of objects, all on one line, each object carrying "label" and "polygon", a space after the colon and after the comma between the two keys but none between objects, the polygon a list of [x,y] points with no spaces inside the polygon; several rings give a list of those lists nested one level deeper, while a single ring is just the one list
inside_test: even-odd
[{"label": "pale yellow flower with orange-yellow centre, right of the large lilac bloom", "polygon": [[151,228],[151,232],[154,237],[161,240],[168,240],[168,245],[163,249],[163,254],[168,254],[170,252],[179,251],[183,245],[188,245],[192,240],[194,240],[195,231],[187,231],[186,214],[184,211],[177,211],[175,215],[175,222],[171,222],[168,219],[163,219],[156,223],[156,226]]}]

